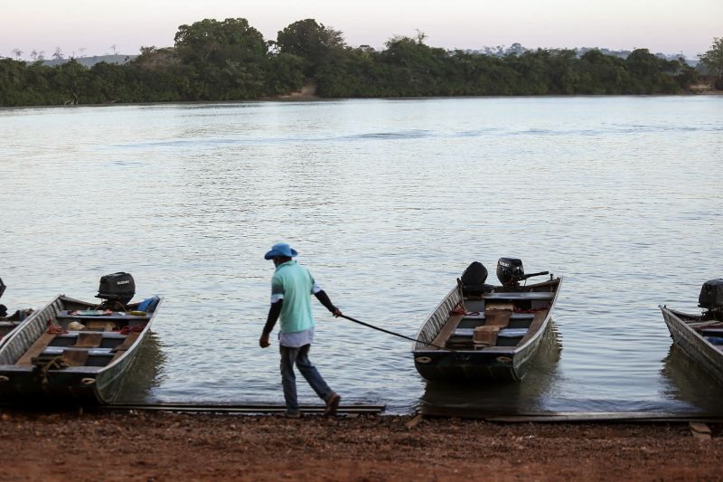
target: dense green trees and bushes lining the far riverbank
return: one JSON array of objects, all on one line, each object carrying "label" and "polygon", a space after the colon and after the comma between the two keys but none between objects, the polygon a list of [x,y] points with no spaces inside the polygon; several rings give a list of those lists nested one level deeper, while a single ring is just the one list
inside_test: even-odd
[{"label": "dense green trees and bushes lining the far riverbank", "polygon": [[[713,53],[710,59],[720,76]],[[71,60],[47,67],[0,59],[0,105],[264,99],[306,83],[326,98],[672,94],[697,77],[682,59],[665,60],[646,49],[626,59],[596,50],[496,56],[431,47],[419,34],[394,37],[376,51],[346,45],[341,32],[313,19],[267,41],[246,19],[230,18],[181,25],[174,47],[143,47],[124,65],[86,68]]]}]

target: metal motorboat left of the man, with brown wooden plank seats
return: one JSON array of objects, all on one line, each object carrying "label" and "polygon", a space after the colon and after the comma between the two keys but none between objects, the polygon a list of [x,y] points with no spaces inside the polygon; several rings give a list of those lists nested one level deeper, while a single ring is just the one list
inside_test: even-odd
[{"label": "metal motorboat left of the man, with brown wooden plank seats", "polygon": [[0,403],[113,402],[162,301],[128,304],[135,289],[114,273],[100,279],[101,303],[60,295],[25,319],[0,347]]}]

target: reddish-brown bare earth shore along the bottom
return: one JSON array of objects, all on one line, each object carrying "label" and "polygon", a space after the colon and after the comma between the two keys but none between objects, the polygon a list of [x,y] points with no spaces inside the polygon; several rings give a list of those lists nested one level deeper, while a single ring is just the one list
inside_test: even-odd
[{"label": "reddish-brown bare earth shore along the bottom", "polygon": [[0,411],[2,480],[721,480],[723,427]]}]

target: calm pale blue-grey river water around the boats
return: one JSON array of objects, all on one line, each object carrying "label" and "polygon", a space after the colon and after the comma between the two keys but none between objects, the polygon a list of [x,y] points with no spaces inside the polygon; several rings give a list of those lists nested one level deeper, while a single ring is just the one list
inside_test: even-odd
[{"label": "calm pale blue-grey river water around the boats", "polygon": [[283,402],[258,336],[287,241],[345,314],[407,336],[473,260],[564,277],[530,377],[475,392],[317,304],[344,402],[723,412],[657,308],[696,312],[723,275],[723,97],[0,109],[0,136],[5,305],[92,299],[115,271],[164,296],[127,401]]}]

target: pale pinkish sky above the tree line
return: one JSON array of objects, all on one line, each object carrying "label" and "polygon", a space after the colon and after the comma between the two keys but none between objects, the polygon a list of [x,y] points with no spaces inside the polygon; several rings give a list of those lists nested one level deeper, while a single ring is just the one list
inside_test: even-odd
[{"label": "pale pinkish sky above the tree line", "polygon": [[689,59],[723,37],[723,0],[0,0],[0,56],[56,48],[67,56],[136,54],[174,44],[178,26],[204,18],[246,18],[275,40],[314,18],[351,46],[383,49],[395,35],[425,33],[427,45],[482,49],[646,48]]}]

